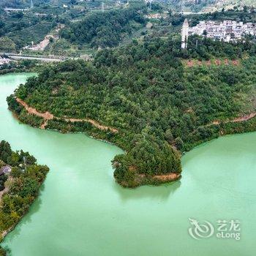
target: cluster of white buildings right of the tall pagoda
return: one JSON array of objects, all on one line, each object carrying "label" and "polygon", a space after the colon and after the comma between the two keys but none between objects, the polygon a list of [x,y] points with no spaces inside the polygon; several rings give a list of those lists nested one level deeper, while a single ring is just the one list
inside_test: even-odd
[{"label": "cluster of white buildings right of the tall pagoda", "polygon": [[212,39],[219,39],[225,42],[237,41],[244,35],[256,35],[255,23],[243,23],[234,20],[200,21],[197,26],[189,27],[188,35],[198,34]]}]

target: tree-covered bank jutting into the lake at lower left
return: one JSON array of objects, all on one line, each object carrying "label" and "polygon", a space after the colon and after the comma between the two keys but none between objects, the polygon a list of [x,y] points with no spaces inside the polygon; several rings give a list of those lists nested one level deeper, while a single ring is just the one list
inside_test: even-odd
[{"label": "tree-covered bank jutting into the lake at lower left", "polygon": [[[49,169],[45,165],[37,165],[37,159],[28,152],[12,151],[4,140],[0,142],[0,162],[12,167],[9,178],[4,177],[8,191],[0,198],[2,234],[12,229],[29,210]],[[5,255],[1,246],[0,255]]]}]

